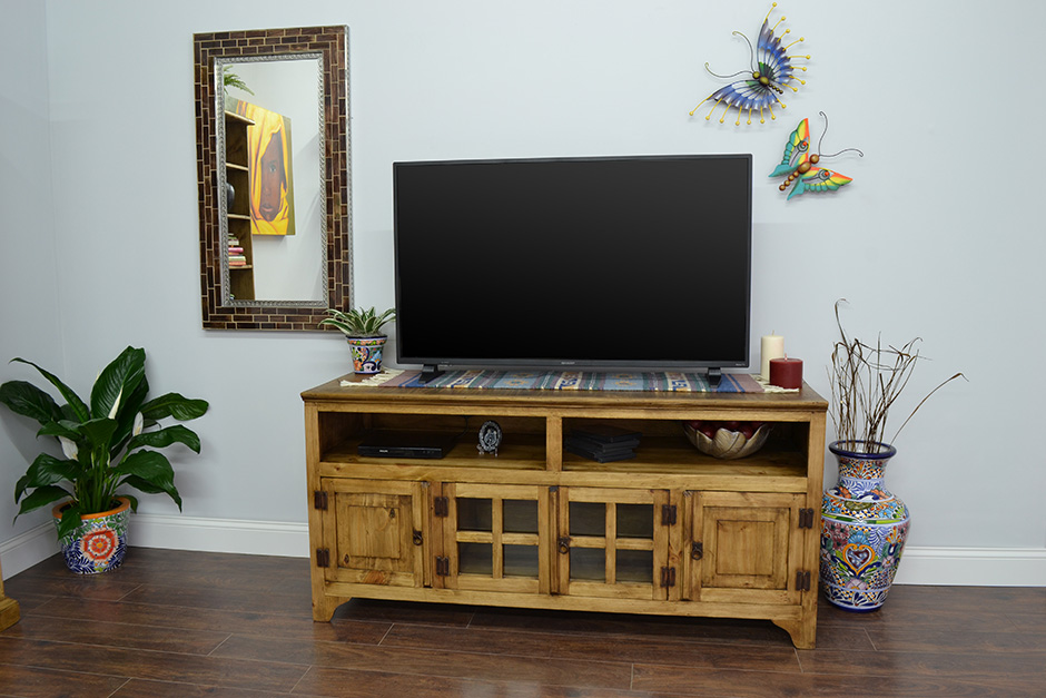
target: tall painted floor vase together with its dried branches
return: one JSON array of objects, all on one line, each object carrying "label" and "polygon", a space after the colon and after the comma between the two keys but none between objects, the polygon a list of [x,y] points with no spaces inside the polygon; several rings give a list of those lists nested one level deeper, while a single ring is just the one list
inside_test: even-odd
[{"label": "tall painted floor vase together with its dried branches", "polygon": [[839,318],[839,341],[831,354],[831,417],[838,440],[828,449],[839,464],[839,481],[821,505],[821,589],[833,604],[853,611],[878,609],[894,582],[908,538],[908,508],[884,483],[884,470],[897,449],[894,441],[930,395],[963,377],[956,373],[915,406],[890,442],[890,407],[900,397],[916,364],[921,340],[900,347],[865,343],[847,335]]}]

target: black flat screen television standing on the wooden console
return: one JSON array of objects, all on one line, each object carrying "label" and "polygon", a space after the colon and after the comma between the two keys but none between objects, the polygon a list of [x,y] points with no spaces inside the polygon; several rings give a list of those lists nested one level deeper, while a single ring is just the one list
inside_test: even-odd
[{"label": "black flat screen television standing on the wooden console", "polygon": [[751,155],[411,161],[393,179],[401,364],[749,365]]}]

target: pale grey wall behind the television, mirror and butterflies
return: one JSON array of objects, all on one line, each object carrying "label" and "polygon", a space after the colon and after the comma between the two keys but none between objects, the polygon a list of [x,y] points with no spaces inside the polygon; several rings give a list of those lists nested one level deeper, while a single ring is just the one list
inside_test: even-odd
[{"label": "pale grey wall behind the television, mirror and butterflies", "polygon": [[[730,32],[754,39],[762,1],[185,0],[142,11],[130,0],[49,0],[46,22],[28,0],[13,9],[30,39],[46,30],[48,48],[46,73],[37,65],[0,79],[6,102],[32,102],[29,117],[10,107],[0,116],[0,157],[14,170],[3,174],[14,186],[2,193],[0,348],[55,361],[86,385],[125,345],[141,345],[154,391],[211,401],[196,423],[203,455],[176,462],[182,519],[146,497],[144,520],[304,530],[298,393],[347,371],[348,356],[330,335],[200,330],[191,40],[344,23],[355,287],[366,305],[393,303],[394,160],[750,151],[769,173],[798,120],[811,117],[819,132],[826,111],[825,150],[865,157],[836,160],[853,183],[835,195],[786,203],[776,180],[757,179],[753,357],[760,334],[783,334],[827,395],[839,297],[850,301],[852,333],[924,337],[934,361],[918,368],[896,425],[944,377],[963,371],[969,382],[935,396],[897,443],[888,483],[914,511],[909,550],[1013,550],[1046,583],[1046,468],[1035,445],[1046,391],[1035,353],[1046,345],[1036,124],[1046,98],[1028,77],[1046,6],[782,2],[776,14],[812,56],[808,85],[783,98],[776,122],[751,127],[688,112],[721,85],[705,61],[720,73],[747,65]],[[48,141],[49,166],[39,159]],[[27,191],[24,180],[40,184]],[[40,239],[28,244],[27,229]],[[6,380],[23,375],[2,368]],[[6,461],[29,456],[21,426],[0,416]],[[0,540],[24,530],[8,523],[12,507],[0,497]],[[956,569],[935,581],[980,579]]]}]

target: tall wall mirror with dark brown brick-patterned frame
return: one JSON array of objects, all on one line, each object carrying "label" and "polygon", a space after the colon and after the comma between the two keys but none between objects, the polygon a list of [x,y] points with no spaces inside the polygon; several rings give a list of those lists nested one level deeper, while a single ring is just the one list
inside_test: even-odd
[{"label": "tall wall mirror with dark brown brick-patterned frame", "polygon": [[348,29],[194,35],[205,328],[352,305]]}]

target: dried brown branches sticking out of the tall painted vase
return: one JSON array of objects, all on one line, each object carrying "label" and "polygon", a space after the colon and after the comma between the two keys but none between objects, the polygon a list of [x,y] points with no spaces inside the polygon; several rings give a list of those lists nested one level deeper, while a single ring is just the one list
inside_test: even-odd
[{"label": "dried brown branches sticking out of the tall painted vase", "polygon": [[[894,402],[908,385],[916,362],[922,358],[918,348],[922,340],[916,337],[897,348],[884,347],[881,340],[871,346],[860,340],[849,338],[839,318],[840,303],[846,303],[846,298],[836,301],[836,325],[840,340],[832,350],[829,368],[831,419],[842,448],[875,452],[871,449],[879,449],[876,444],[892,443],[885,440],[887,416]],[[931,390],[900,425],[894,440],[930,395],[958,377],[966,380],[965,375],[956,373]]]}]

